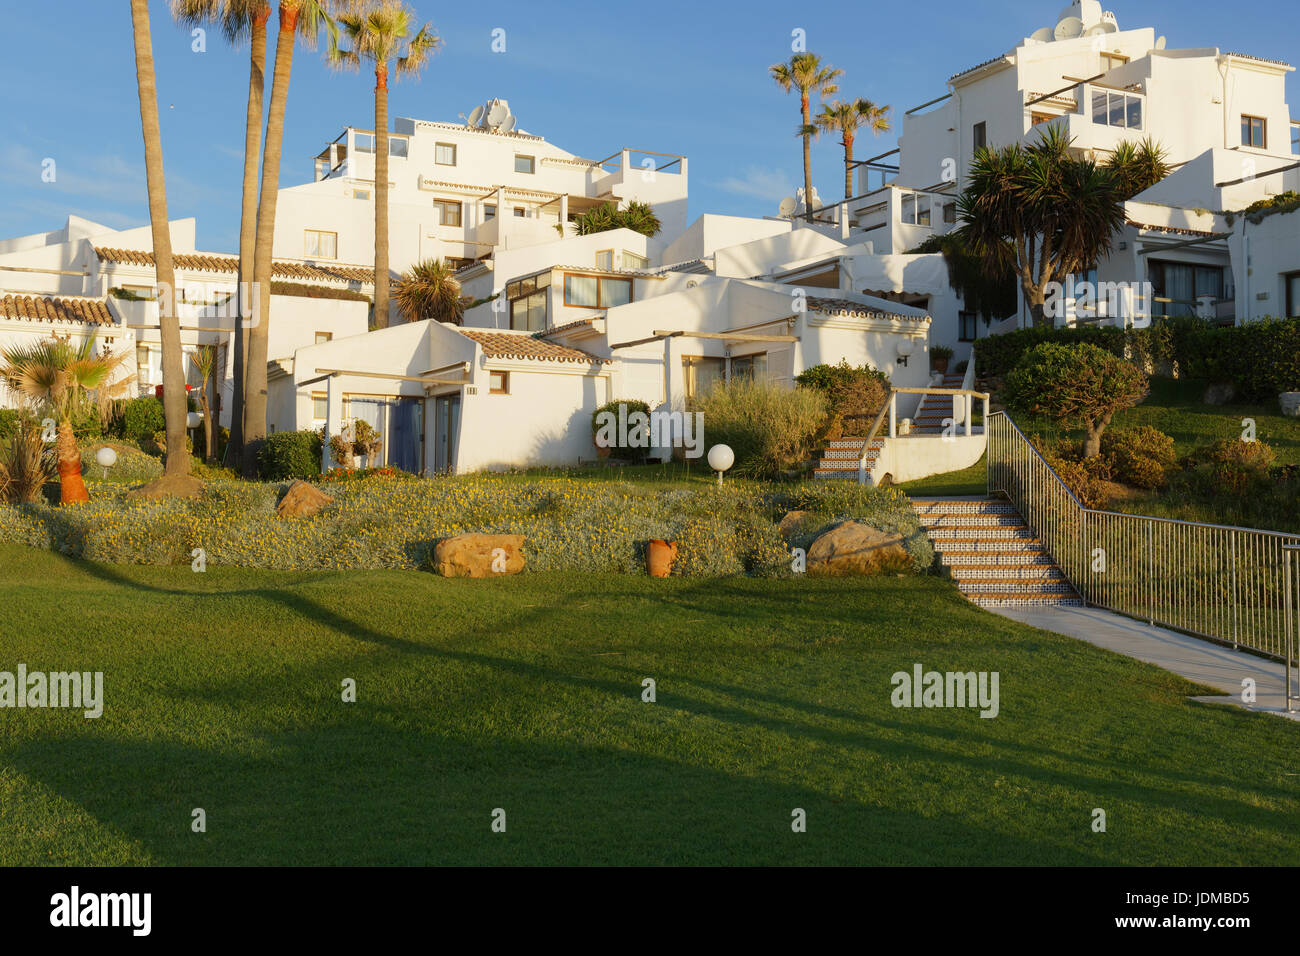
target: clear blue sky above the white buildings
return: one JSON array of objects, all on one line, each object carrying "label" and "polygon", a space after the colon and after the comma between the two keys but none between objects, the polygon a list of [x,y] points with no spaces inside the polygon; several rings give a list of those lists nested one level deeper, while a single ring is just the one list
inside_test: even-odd
[{"label": "clear blue sky above the white buildings", "polygon": [[[491,96],[520,126],[589,159],[623,146],[690,157],[690,215],[775,215],[802,179],[798,101],[767,75],[790,33],[845,70],[841,95],[894,107],[945,92],[959,69],[1056,22],[1065,0],[1001,3],[516,3],[412,0],[445,47],[417,82],[393,88],[391,114],[455,121]],[[1154,26],[1170,47],[1219,47],[1300,62],[1295,0],[1222,4],[1112,0],[1121,29]],[[209,33],[207,52],[151,0],[173,219],[199,220],[199,247],[237,250],[247,52]],[[125,0],[52,0],[6,10],[0,116],[0,237],[62,226],[68,213],[120,228],[147,222],[143,143]],[[504,53],[491,31],[506,30]],[[17,38],[21,38],[17,39]],[[269,78],[268,78],[269,86]],[[318,52],[294,64],[281,183],[312,178],[311,157],[344,125],[369,126],[373,79],[335,73]],[[1288,81],[1292,114],[1297,81]],[[858,157],[893,148],[893,134],[859,139]],[[55,182],[42,181],[53,159]],[[814,182],[838,194],[842,152],[814,144]]]}]

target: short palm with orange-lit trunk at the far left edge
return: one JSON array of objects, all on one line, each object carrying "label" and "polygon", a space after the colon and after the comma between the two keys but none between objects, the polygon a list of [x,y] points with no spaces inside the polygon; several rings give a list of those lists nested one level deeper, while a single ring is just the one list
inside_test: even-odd
[{"label": "short palm with orange-lit trunk at the far left edge", "polygon": [[[131,3],[143,4],[146,0]],[[66,337],[53,337],[0,350],[0,360],[4,363],[0,377],[5,384],[58,423],[55,447],[58,458],[58,498],[64,505],[90,501],[81,476],[81,449],[73,420],[91,408],[98,408],[103,415],[113,398],[126,393],[131,376],[116,376],[129,356],[125,351],[118,355],[96,352],[94,336],[79,345],[73,345]],[[183,388],[179,394],[183,403]],[[181,447],[183,454],[183,442]]]}]

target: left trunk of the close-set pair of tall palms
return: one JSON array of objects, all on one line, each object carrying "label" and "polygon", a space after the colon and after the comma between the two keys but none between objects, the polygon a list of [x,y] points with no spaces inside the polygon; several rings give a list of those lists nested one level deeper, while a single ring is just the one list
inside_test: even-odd
[{"label": "left trunk of the close-set pair of tall palms", "polygon": [[[243,457],[244,376],[248,368],[248,329],[254,320],[254,247],[257,242],[257,160],[261,159],[263,91],[266,85],[266,21],[270,5],[263,7],[252,21],[252,44],[248,56],[248,114],[244,121],[243,203],[239,217],[239,316],[235,320],[234,375],[230,401],[230,441],[234,454],[230,464],[239,467]],[[216,380],[216,376],[213,376]]]}]

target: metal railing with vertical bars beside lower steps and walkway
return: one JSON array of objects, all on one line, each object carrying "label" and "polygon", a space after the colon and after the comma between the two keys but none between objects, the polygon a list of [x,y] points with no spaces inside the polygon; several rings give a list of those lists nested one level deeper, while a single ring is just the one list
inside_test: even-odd
[{"label": "metal railing with vertical bars beside lower steps and walkway", "polygon": [[1290,708],[1300,535],[1088,509],[1006,412],[984,431],[989,494],[1006,494],[1087,604],[1286,661]]}]

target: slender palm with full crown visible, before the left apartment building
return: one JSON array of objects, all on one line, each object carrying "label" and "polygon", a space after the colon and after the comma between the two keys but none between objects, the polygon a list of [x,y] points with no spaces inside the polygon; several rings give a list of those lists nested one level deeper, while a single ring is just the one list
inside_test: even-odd
[{"label": "slender palm with full crown visible, before the left apartment building", "polygon": [[442,40],[429,23],[412,34],[415,10],[402,0],[352,0],[338,14],[347,49],[330,62],[360,70],[374,64],[374,324],[389,325],[389,68],[394,79],[415,77]]}]

